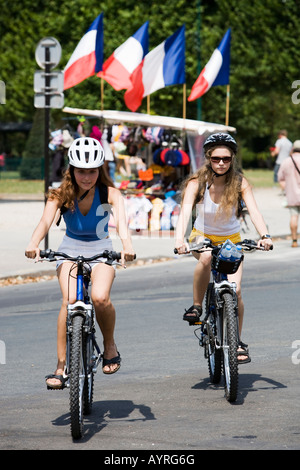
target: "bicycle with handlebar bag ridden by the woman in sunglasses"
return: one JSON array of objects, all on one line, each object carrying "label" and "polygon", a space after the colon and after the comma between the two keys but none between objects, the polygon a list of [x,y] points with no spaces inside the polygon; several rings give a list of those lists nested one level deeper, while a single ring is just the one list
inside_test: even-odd
[{"label": "bicycle with handlebar bag ridden by the woman in sunglasses", "polygon": [[[190,245],[190,251],[212,251],[212,281],[209,282],[205,293],[205,316],[203,320],[190,322],[190,325],[199,325],[194,334],[199,340],[199,345],[204,348],[211,382],[220,383],[223,375],[225,397],[229,402],[235,402],[238,395],[237,350],[241,342],[236,284],[228,281],[228,274],[234,274],[238,270],[244,254],[234,261],[221,259],[220,251],[224,245],[225,243],[213,246],[207,238],[198,245]],[[243,240],[236,245],[240,245],[244,251],[264,250],[253,240]],[[177,252],[176,249],[174,251]],[[199,330],[200,335],[197,334]]]}]

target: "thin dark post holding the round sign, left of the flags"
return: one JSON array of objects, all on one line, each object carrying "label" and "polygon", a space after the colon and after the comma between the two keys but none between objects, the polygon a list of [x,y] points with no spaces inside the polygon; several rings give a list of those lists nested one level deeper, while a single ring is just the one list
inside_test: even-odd
[{"label": "thin dark post holding the round sign, left of the flags", "polygon": [[[45,156],[45,204],[49,189],[49,121],[50,121],[50,48],[45,47],[45,130],[44,130],[44,156]],[[48,249],[48,233],[45,236],[45,250]]]}]

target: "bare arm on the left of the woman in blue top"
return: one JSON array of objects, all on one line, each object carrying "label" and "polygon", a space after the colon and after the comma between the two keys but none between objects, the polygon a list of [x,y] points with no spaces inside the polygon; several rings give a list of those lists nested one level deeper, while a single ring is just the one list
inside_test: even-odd
[{"label": "bare arm on the left of the woman in blue top", "polygon": [[35,258],[36,256],[39,256],[39,244],[49,232],[59,207],[60,202],[58,199],[47,201],[41,220],[34,230],[31,240],[26,248],[25,256],[27,256],[27,258]]}]

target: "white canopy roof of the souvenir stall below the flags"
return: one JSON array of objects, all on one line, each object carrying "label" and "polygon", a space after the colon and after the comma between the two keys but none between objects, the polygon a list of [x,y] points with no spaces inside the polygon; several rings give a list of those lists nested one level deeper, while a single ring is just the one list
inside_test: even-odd
[{"label": "white canopy roof of the souvenir stall below the flags", "polygon": [[236,132],[234,127],[212,122],[196,121],[192,119],[182,119],[170,116],[155,116],[143,113],[133,113],[129,111],[101,111],[70,107],[65,107],[63,111],[69,114],[76,114],[77,116],[90,116],[98,119],[104,119],[108,124],[122,122],[132,126],[163,127],[165,129],[173,129],[174,131],[185,132],[189,145],[192,171],[195,171],[197,168],[199,168],[201,164],[202,144],[207,135],[214,132]]}]

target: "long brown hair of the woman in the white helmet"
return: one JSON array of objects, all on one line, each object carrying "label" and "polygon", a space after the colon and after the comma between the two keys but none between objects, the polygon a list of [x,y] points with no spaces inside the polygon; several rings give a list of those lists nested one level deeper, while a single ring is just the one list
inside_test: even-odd
[{"label": "long brown hair of the woman in the white helmet", "polygon": [[[74,201],[78,196],[79,187],[76,183],[74,175],[75,167],[70,165],[64,173],[61,185],[57,189],[51,189],[48,193],[48,199],[58,199],[61,205],[64,205],[67,209],[74,210]],[[106,168],[104,166],[99,167],[99,175],[96,181],[96,186],[100,187],[104,184],[107,187],[114,187],[113,181],[108,176]]]}]

